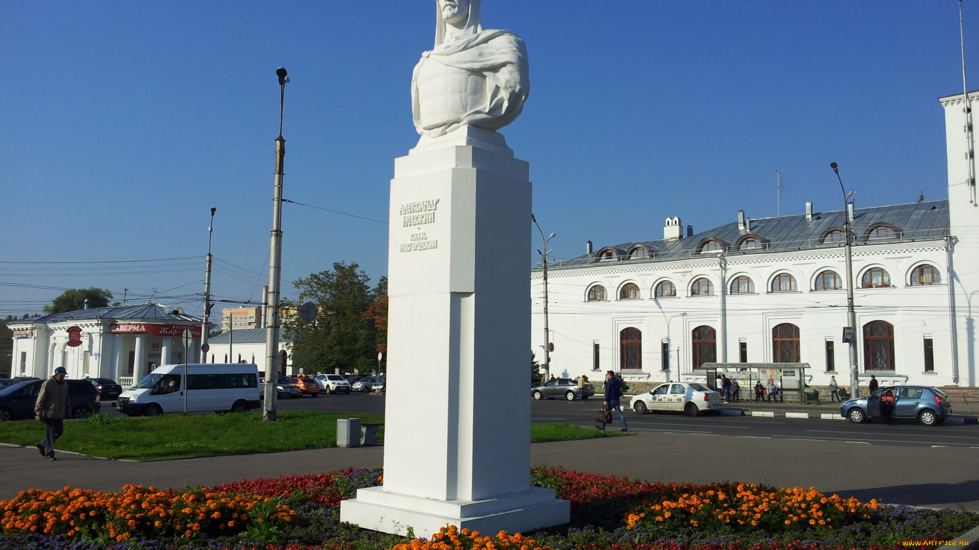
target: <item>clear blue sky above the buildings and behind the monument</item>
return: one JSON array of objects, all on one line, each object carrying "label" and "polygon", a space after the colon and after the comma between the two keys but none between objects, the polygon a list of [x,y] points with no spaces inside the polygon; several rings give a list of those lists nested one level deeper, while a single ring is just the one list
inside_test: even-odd
[{"label": "clear blue sky above the buildings and behind the monument", "polygon": [[[701,231],[774,215],[776,168],[783,214],[838,207],[831,160],[857,206],[947,197],[953,0],[483,4],[528,45],[531,96],[502,133],[558,257],[660,238],[667,216]],[[965,22],[979,78],[976,0]],[[216,206],[213,292],[260,298],[274,70],[292,78],[285,197],[386,219],[434,23],[432,1],[0,3],[0,282],[200,293]],[[287,296],[334,261],[386,273],[387,225],[297,205],[283,220]],[[10,263],[156,258],[192,259]],[[0,286],[0,315],[58,294]]]}]

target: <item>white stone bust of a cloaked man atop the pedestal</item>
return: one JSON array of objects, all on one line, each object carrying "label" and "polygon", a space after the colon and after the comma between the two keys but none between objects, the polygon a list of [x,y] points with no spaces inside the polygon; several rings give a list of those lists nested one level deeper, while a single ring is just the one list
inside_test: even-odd
[{"label": "white stone bust of a cloaked man atop the pedestal", "polygon": [[436,0],[435,48],[411,75],[415,129],[439,137],[466,124],[497,130],[524,109],[531,82],[527,47],[506,30],[484,29],[480,0]]}]

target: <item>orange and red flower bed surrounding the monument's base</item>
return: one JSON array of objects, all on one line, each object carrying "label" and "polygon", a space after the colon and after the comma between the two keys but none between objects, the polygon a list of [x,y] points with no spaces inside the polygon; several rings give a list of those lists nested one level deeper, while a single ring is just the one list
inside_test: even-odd
[{"label": "orange and red flower bed surrounding the monument's base", "polygon": [[431,540],[360,529],[340,522],[339,503],[380,484],[381,470],[348,469],[178,491],[24,491],[0,501],[0,549],[883,550],[979,525],[970,512],[864,504],[815,489],[633,481],[554,468],[531,474],[534,484],[571,501],[570,525],[492,536],[451,527]]}]

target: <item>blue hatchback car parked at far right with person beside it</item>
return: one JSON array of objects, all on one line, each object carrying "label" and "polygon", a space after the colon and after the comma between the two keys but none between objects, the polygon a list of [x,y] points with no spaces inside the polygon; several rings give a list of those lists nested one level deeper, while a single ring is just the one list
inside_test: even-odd
[{"label": "blue hatchback car parked at far right with person beside it", "polygon": [[880,397],[887,390],[891,390],[895,397],[895,420],[916,419],[924,426],[940,426],[952,415],[949,396],[938,388],[928,386],[880,387],[868,397],[845,401],[840,405],[840,414],[855,424],[884,420],[880,414]]}]

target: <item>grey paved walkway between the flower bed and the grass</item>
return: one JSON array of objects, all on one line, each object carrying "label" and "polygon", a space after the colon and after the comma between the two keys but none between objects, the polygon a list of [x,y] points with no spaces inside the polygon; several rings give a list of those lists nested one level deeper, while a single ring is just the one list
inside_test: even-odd
[{"label": "grey paved walkway between the flower bed and the grass", "polygon": [[[901,447],[844,441],[746,436],[638,433],[628,437],[536,443],[532,464],[659,481],[751,481],[816,486],[861,500],[979,510],[979,449]],[[34,448],[0,447],[11,465],[0,477],[0,499],[27,488],[65,485],[118,490],[124,483],[161,488],[319,474],[382,465],[384,449],[332,448],[159,462],[121,462],[60,454],[42,459]],[[15,471],[16,468],[16,471]]]}]

